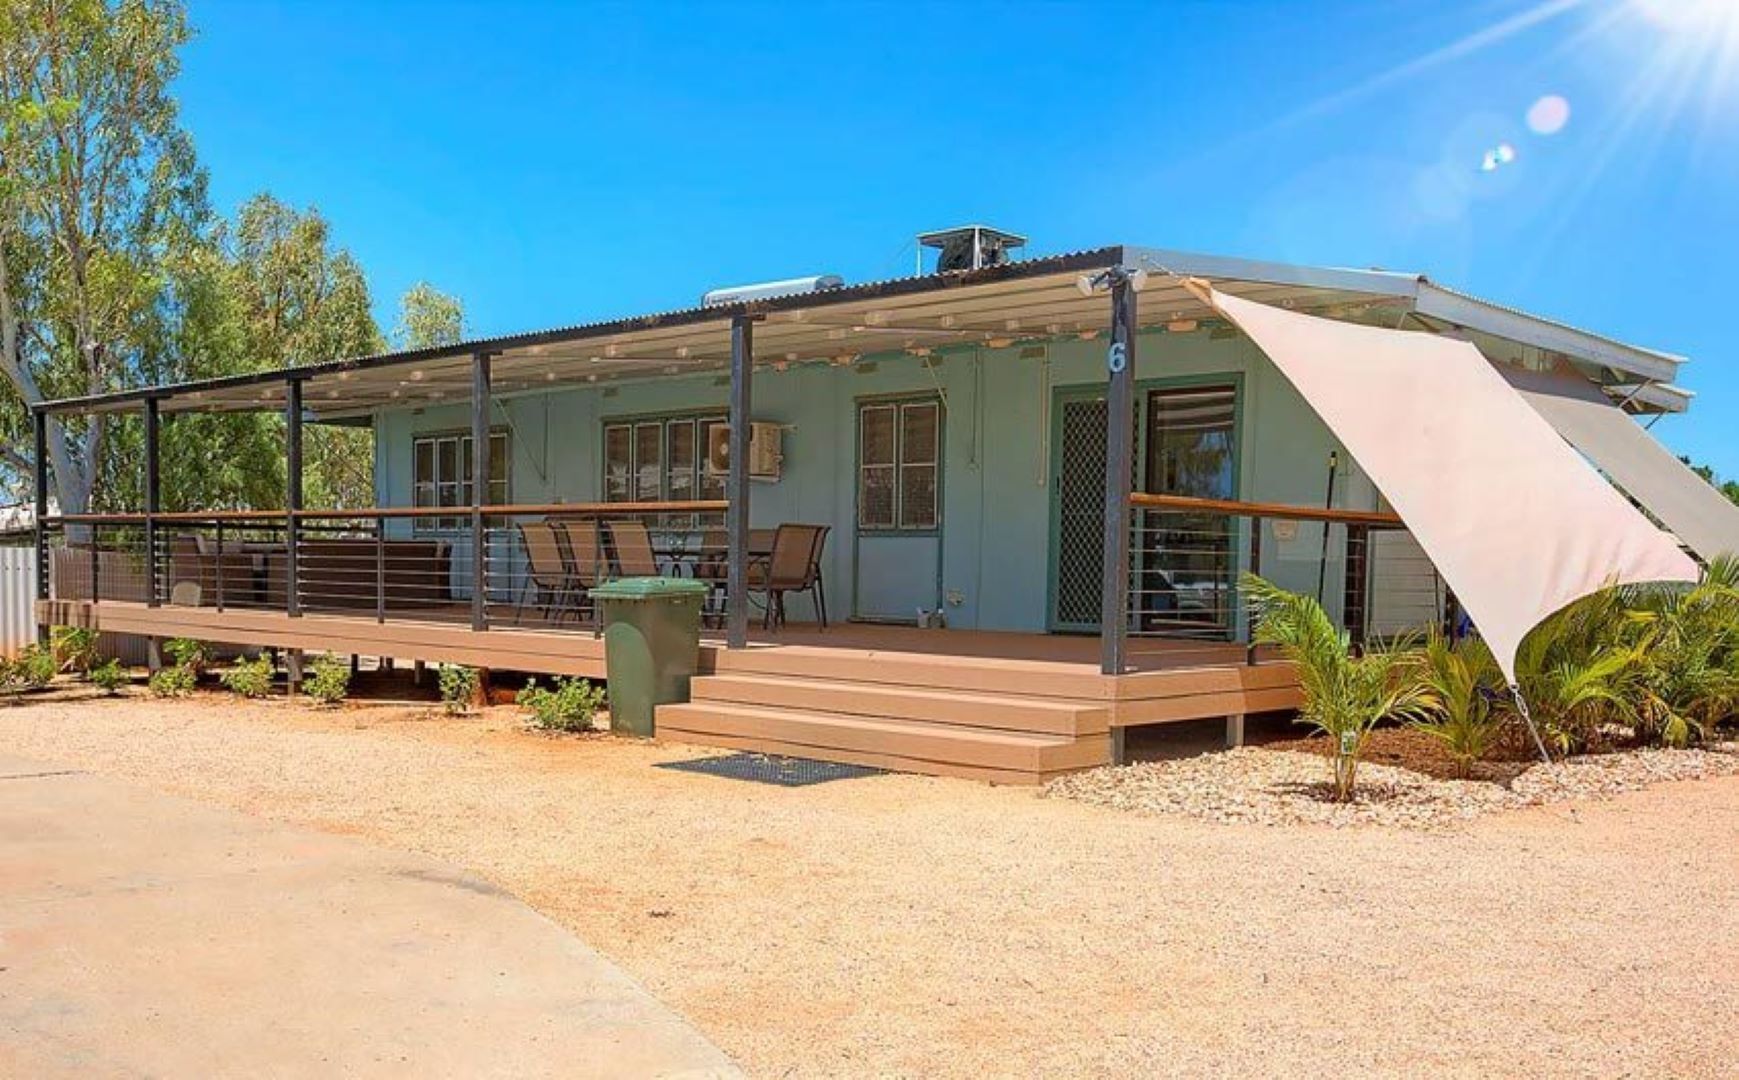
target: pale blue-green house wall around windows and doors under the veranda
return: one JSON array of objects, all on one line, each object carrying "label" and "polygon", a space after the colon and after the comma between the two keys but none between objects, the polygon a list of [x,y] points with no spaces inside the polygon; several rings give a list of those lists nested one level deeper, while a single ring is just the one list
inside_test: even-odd
[{"label": "pale blue-green house wall around windows and doors under the veranda", "polygon": [[[1042,348],[963,350],[934,358],[904,353],[866,357],[852,367],[758,369],[753,416],[786,424],[784,475],[755,483],[755,527],[779,522],[833,525],[826,553],[833,616],[852,610],[852,532],[856,515],[856,403],[868,397],[934,393],[946,397],[943,435],[943,574],[951,626],[1036,631],[1047,626],[1050,567],[1049,393],[1104,386],[1104,341],[1064,339]],[[1149,332],[1139,339],[1137,379],[1163,384],[1214,374],[1242,376],[1240,480],[1247,501],[1322,506],[1334,437],[1273,365],[1242,336]],[[510,397],[494,424],[511,430],[515,503],[600,499],[602,423],[617,417],[723,410],[729,384],[716,374],[647,379]],[[466,403],[383,410],[376,417],[376,485],[383,506],[410,504],[410,440],[417,433],[470,426]],[[1370,483],[1343,452],[1336,506],[1374,508]],[[1336,543],[1332,558],[1339,560]],[[1303,523],[1290,539],[1264,541],[1264,574],[1289,588],[1315,591],[1322,550],[1318,527]],[[1330,609],[1339,593],[1339,562],[1329,567]],[[873,588],[866,581],[864,588]],[[793,616],[807,617],[803,600]]]}]

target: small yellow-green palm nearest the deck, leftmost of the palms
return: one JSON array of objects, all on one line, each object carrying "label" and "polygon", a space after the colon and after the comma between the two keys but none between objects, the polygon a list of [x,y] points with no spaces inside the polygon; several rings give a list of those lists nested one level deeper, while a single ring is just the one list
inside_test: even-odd
[{"label": "small yellow-green palm nearest the deck, leftmost of the palms", "polygon": [[1377,722],[1421,718],[1433,701],[1419,678],[1419,654],[1400,647],[1355,657],[1346,631],[1336,628],[1313,597],[1290,593],[1256,574],[1243,574],[1240,581],[1250,603],[1254,638],[1278,645],[1297,668],[1304,692],[1299,722],[1329,737],[1334,798],[1348,802]]}]

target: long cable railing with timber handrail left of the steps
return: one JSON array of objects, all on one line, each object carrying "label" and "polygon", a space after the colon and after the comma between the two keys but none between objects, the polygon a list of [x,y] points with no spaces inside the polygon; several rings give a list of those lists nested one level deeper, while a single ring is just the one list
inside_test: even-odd
[{"label": "long cable railing with timber handrail left of the steps", "polygon": [[[595,630],[617,577],[708,583],[723,619],[723,501],[87,513],[45,518],[49,598]],[[148,539],[150,537],[150,539]],[[753,548],[753,539],[751,539]]]}]

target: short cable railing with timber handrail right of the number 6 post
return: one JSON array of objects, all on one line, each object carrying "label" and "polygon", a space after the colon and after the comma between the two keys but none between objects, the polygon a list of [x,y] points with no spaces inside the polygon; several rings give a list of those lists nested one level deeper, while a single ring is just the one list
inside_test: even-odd
[{"label": "short cable railing with timber handrail right of the number 6 post", "polygon": [[1146,492],[1129,501],[1130,638],[1249,645],[1245,570],[1315,597],[1355,649],[1449,617],[1436,569],[1393,513]]}]

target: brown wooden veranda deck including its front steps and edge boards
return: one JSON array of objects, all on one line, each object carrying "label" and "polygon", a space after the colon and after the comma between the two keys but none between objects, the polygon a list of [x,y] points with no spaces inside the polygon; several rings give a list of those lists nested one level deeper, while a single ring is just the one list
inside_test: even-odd
[{"label": "brown wooden veranda deck including its front steps and edge boards", "polygon": [[[603,678],[584,630],[137,602],[50,600],[38,617],[103,631],[193,637],[398,661]],[[692,699],[663,706],[661,739],[904,772],[1042,783],[1111,760],[1127,725],[1296,708],[1290,664],[1242,645],[1130,640],[1130,670],[1099,671],[1099,640],[1036,633],[845,624],[756,633],[729,650],[706,635]]]}]

